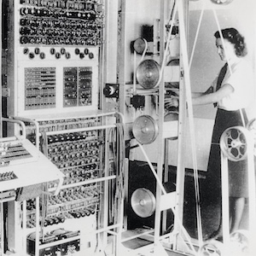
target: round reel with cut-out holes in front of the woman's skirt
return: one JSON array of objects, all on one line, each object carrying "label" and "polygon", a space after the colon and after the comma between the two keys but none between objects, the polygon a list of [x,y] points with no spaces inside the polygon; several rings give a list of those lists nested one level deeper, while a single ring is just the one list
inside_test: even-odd
[{"label": "round reel with cut-out holes in front of the woman's skirt", "polygon": [[244,160],[247,157],[249,131],[242,126],[226,129],[220,137],[220,148],[223,154],[232,161]]}]

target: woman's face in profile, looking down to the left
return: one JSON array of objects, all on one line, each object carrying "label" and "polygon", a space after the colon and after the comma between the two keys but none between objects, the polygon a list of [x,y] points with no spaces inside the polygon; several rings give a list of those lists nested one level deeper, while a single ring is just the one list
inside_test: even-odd
[{"label": "woman's face in profile, looking down to the left", "polygon": [[223,45],[221,38],[216,38],[216,47],[222,61],[230,61],[230,59],[236,56],[234,44],[231,44],[227,39],[224,39]]}]

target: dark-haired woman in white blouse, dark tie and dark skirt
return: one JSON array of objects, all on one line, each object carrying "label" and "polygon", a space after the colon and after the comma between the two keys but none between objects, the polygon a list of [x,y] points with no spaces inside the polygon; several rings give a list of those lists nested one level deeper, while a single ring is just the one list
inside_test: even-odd
[{"label": "dark-haired woman in white blouse, dark tie and dark skirt", "polygon": [[[244,38],[235,28],[224,29],[221,33],[223,38],[221,38],[220,32],[215,32],[214,36],[218,55],[222,61],[225,61],[225,65],[218,74],[218,78],[212,82],[205,93],[192,94],[193,105],[213,103],[215,107],[218,107],[208,162],[207,190],[213,192],[219,199],[221,197],[219,139],[227,128],[246,125],[247,116],[244,108],[249,105],[249,99],[253,94],[253,71],[242,58],[247,54]],[[177,98],[166,99],[167,108],[177,106]],[[248,194],[246,160],[229,161],[229,176],[230,233],[232,233],[239,228]],[[209,238],[217,239],[218,236],[221,236],[221,232],[220,220],[218,230],[213,232]]]}]

